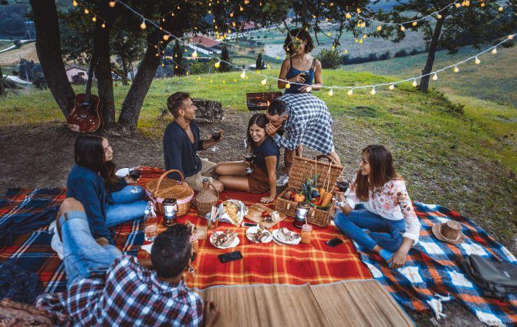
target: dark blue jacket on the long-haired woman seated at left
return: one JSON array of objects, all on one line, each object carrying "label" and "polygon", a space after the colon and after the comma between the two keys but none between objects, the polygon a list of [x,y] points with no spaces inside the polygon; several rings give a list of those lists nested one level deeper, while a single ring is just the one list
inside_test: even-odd
[{"label": "dark blue jacket on the long-haired woman seated at left", "polygon": [[103,178],[91,169],[74,165],[66,182],[66,197],[75,198],[83,204],[93,237],[107,238],[114,245],[105,224],[108,193]]}]

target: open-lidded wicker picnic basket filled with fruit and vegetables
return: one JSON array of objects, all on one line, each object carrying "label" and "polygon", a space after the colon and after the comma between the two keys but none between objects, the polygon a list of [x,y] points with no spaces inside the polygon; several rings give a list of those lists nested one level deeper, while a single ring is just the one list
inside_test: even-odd
[{"label": "open-lidded wicker picnic basket filled with fruit and vegetables", "polygon": [[[321,159],[327,159],[329,162],[323,162]],[[318,175],[318,187],[325,188],[326,191],[332,191],[334,184],[343,171],[340,165],[334,165],[330,156],[320,155],[313,159],[294,157],[291,176],[287,187],[276,198],[275,210],[286,215],[294,217],[298,203],[286,200],[283,194],[289,189],[299,189],[307,176]],[[330,209],[321,210],[312,207],[307,214],[307,222],[316,226],[326,227],[330,222]]]}]

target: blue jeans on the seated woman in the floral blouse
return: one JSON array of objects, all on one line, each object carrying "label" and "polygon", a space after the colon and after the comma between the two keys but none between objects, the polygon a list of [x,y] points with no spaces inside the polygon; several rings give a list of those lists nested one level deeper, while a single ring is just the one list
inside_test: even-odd
[{"label": "blue jeans on the seated woman in the floral blouse", "polygon": [[[370,251],[378,245],[387,251],[396,252],[402,245],[401,233],[405,232],[403,219],[389,220],[361,209],[352,210],[348,215],[340,212],[334,218],[334,222],[343,234]],[[369,233],[363,229],[367,229]]]}]

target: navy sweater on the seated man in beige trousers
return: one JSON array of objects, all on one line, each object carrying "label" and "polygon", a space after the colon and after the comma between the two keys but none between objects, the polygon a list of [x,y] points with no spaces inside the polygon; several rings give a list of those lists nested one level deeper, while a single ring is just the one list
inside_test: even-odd
[{"label": "navy sweater on the seated man in beige trousers", "polygon": [[[190,123],[194,134],[194,143],[190,142],[187,132],[175,121],[165,128],[163,134],[163,161],[165,170],[177,169],[188,177],[201,171],[201,159],[196,151],[203,150],[203,141],[199,140],[199,127],[196,122]],[[169,178],[179,180],[177,173],[171,173]]]}]

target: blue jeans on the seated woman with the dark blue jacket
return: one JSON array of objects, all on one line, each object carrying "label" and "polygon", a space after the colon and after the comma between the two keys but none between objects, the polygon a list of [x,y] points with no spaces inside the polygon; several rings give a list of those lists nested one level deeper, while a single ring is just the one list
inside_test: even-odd
[{"label": "blue jeans on the seated woman with the dark blue jacket", "polygon": [[106,208],[106,227],[142,218],[148,203],[143,201],[144,198],[145,191],[136,185],[128,185],[121,191],[110,193],[110,203]]}]

